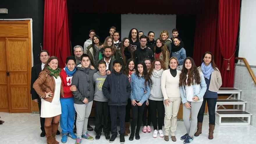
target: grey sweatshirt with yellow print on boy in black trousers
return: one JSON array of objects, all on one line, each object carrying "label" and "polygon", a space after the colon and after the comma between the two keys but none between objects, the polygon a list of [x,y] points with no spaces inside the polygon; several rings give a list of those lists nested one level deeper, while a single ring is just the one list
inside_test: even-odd
[{"label": "grey sweatshirt with yellow print on boy in black trousers", "polygon": [[95,85],[93,100],[99,102],[108,102],[109,100],[103,95],[102,86],[107,75],[102,76],[99,72],[93,74],[93,84]]}]

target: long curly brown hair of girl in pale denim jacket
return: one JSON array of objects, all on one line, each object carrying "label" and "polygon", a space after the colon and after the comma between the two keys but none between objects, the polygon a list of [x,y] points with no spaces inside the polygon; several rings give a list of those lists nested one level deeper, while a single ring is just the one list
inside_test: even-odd
[{"label": "long curly brown hair of girl in pale denim jacket", "polygon": [[[188,71],[188,69],[186,69],[185,67],[186,60],[191,61],[190,71]],[[186,83],[187,74],[188,74],[188,82]],[[186,85],[191,86],[191,84],[194,85],[194,84],[200,84],[200,83],[201,83],[201,77],[195,65],[195,61],[191,57],[186,57],[183,63],[183,69],[179,76],[179,86],[186,86]]]}]

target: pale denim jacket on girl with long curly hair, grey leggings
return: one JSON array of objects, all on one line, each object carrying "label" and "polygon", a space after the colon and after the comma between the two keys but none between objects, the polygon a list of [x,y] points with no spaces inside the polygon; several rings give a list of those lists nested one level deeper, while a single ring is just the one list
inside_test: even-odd
[{"label": "pale denim jacket on girl with long curly hair, grey leggings", "polygon": [[[199,99],[202,99],[205,95],[207,86],[205,83],[205,78],[204,75],[201,71],[199,71],[200,77],[201,77],[201,83],[200,84],[194,84],[193,86],[193,92],[194,92],[194,96],[198,96]],[[194,80],[195,83],[195,80]],[[186,94],[185,94],[185,86],[180,86],[179,87],[180,90],[180,95],[181,95],[181,99],[182,99],[182,103],[185,104],[187,101],[186,99]]]}]

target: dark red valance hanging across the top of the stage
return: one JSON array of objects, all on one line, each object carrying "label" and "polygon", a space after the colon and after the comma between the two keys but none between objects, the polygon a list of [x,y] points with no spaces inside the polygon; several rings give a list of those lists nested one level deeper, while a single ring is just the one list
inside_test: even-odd
[{"label": "dark red valance hanging across the top of the stage", "polygon": [[196,0],[68,0],[69,13],[194,15]]}]

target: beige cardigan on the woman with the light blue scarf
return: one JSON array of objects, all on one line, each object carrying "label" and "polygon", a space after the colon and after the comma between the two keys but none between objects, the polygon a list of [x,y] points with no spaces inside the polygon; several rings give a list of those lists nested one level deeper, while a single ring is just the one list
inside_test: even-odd
[{"label": "beige cardigan on the woman with the light blue scarf", "polygon": [[[209,85],[209,91],[211,92],[218,92],[219,88],[222,85],[222,79],[221,79],[221,73],[219,69],[216,67],[217,70],[214,70],[211,72],[211,80],[210,80],[210,85]],[[201,70],[201,66],[198,67],[198,70]]]}]

